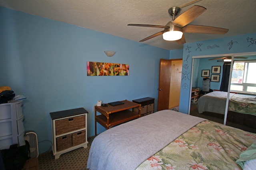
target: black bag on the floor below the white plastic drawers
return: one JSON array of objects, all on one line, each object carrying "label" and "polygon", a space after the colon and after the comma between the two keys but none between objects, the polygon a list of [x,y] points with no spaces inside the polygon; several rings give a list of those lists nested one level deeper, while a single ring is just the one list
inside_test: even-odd
[{"label": "black bag on the floor below the white plastic drawers", "polygon": [[20,170],[30,158],[30,146],[26,144],[18,147],[18,144],[11,145],[10,149],[1,150],[5,170]]}]

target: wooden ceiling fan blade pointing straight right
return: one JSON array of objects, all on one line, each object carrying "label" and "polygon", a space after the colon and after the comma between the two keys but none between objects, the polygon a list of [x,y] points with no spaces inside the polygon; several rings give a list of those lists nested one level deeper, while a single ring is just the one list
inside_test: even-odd
[{"label": "wooden ceiling fan blade pointing straight right", "polygon": [[225,34],[228,29],[203,25],[186,25],[182,27],[182,31],[186,33]]}]

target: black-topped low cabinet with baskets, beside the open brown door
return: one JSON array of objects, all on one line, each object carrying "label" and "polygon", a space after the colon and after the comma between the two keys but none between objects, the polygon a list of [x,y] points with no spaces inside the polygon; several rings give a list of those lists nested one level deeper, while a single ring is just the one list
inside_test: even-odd
[{"label": "black-topped low cabinet with baskets, beside the open brown door", "polygon": [[[154,100],[155,100],[154,98],[141,98],[141,99],[132,100],[132,102],[141,104],[140,115],[146,116],[151,113],[154,113]],[[134,108],[133,111],[138,113],[137,108]]]}]

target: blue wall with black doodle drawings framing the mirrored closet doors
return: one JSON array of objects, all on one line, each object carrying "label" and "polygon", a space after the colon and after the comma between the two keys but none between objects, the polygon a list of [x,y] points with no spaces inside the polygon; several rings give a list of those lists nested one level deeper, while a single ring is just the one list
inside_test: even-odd
[{"label": "blue wall with black doodle drawings framing the mirrored closet doors", "polygon": [[[256,33],[185,44],[183,47],[183,68],[179,111],[188,114],[192,56],[246,52],[256,52]],[[186,68],[184,67],[184,64],[188,64]],[[185,73],[188,75],[187,78],[184,78]]]}]

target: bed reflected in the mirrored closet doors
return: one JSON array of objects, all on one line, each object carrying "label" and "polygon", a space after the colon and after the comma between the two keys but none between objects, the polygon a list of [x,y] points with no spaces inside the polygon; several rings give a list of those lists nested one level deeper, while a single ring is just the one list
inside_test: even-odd
[{"label": "bed reflected in the mirrored closet doors", "polygon": [[[224,120],[227,92],[214,91],[198,99],[198,113]],[[230,93],[226,125],[256,133],[255,96]]]}]

